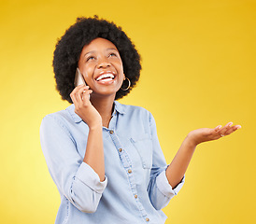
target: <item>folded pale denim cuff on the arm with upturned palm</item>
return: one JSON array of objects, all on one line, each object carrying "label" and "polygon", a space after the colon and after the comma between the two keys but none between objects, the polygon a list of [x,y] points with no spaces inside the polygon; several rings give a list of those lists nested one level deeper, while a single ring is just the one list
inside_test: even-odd
[{"label": "folded pale denim cuff on the arm with upturned palm", "polygon": [[157,176],[156,184],[157,188],[168,198],[172,198],[174,195],[178,194],[178,191],[182,188],[185,182],[185,175],[178,183],[175,189],[169,184],[167,176],[165,175],[165,170]]}]

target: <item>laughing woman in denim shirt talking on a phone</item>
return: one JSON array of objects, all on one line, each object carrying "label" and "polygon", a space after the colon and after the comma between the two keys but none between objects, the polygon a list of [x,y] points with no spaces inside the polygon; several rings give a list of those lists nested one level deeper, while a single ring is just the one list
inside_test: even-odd
[{"label": "laughing woman in denim shirt talking on a phone", "polygon": [[[41,145],[59,192],[55,223],[164,223],[195,147],[239,125],[188,134],[166,165],[149,111],[117,101],[139,78],[140,57],[114,23],[78,18],[54,51],[57,89],[73,103],[46,116]],[[85,84],[74,86],[76,71]]]}]

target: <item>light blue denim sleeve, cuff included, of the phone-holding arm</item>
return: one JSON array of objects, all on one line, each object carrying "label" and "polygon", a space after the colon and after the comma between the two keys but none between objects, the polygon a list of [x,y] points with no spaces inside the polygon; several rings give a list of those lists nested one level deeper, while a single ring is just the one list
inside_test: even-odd
[{"label": "light blue denim sleeve, cuff included, of the phone-holding arm", "polygon": [[95,212],[107,186],[107,177],[101,182],[92,168],[83,162],[76,141],[64,124],[53,115],[43,119],[40,140],[50,175],[60,193],[78,210]]}]

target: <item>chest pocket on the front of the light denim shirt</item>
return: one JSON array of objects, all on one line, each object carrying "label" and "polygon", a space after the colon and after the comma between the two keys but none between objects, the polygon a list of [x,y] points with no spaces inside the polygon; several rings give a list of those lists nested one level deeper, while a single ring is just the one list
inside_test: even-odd
[{"label": "chest pocket on the front of the light denim shirt", "polygon": [[149,133],[132,137],[130,140],[139,154],[143,168],[151,169],[153,149]]}]

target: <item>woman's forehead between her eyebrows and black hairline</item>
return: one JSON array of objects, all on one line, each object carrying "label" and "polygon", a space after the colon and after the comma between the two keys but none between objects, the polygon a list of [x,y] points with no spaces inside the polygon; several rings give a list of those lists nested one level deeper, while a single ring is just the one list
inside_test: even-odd
[{"label": "woman's forehead between her eyebrows and black hairline", "polygon": [[82,49],[83,53],[89,52],[89,51],[97,51],[101,49],[116,49],[116,46],[109,40],[104,38],[95,38],[91,41],[90,44],[85,45]]}]

